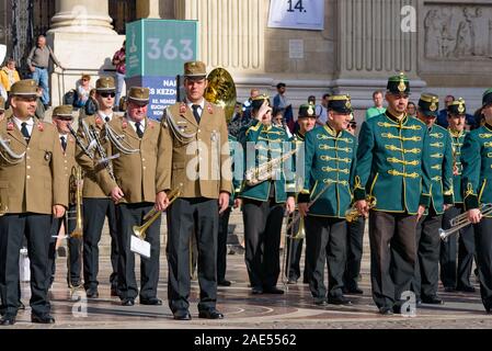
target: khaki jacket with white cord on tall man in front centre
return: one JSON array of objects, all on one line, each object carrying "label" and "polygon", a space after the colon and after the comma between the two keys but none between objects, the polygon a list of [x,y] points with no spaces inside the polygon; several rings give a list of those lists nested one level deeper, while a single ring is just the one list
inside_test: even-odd
[{"label": "khaki jacket with white cord on tall man in front centre", "polygon": [[185,103],[164,110],[157,190],[181,185],[181,197],[218,199],[231,192],[231,160],[224,110],[205,101],[199,124]]}]

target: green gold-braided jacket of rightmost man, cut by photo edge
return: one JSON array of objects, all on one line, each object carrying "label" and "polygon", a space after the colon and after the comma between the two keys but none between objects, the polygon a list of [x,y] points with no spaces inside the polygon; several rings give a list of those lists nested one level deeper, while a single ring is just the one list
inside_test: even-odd
[{"label": "green gold-braided jacket of rightmost man, cut by photo edge", "polygon": [[492,203],[491,125],[485,124],[467,134],[461,148],[461,163],[465,208],[478,208],[480,203]]}]

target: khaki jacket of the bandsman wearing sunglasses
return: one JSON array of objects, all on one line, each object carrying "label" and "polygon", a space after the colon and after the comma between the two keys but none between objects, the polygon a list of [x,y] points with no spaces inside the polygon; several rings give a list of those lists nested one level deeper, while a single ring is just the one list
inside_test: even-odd
[{"label": "khaki jacket of the bandsman wearing sunglasses", "polygon": [[[113,116],[114,118],[114,116]],[[104,121],[99,116],[99,114],[87,116],[82,120],[88,128],[92,125],[95,127],[99,135],[101,135],[101,131],[104,127]],[[83,140],[84,145],[88,144],[87,136],[83,133],[83,128],[81,125],[79,125],[79,129],[77,131],[77,135],[81,140]],[[98,151],[95,152],[95,156],[100,158],[100,155]],[[84,178],[83,178],[83,191],[82,195],[83,197],[89,199],[104,199],[107,197],[107,195],[104,193],[104,191],[101,189],[101,186],[98,184],[98,180],[95,177],[95,170],[94,170],[94,161],[87,156],[82,149],[77,146],[76,150],[76,160],[77,162],[82,167],[84,171]]]}]

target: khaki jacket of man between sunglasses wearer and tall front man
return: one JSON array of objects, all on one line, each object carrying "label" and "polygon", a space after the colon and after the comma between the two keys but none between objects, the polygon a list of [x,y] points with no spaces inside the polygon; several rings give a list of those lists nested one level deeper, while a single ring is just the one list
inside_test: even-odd
[{"label": "khaki jacket of man between sunglasses wearer and tall front man", "polygon": [[156,201],[156,167],[161,127],[156,121],[147,117],[145,121],[146,127],[141,139],[126,117],[116,117],[108,123],[115,134],[123,137],[121,143],[125,147],[139,150],[135,154],[123,154],[113,143],[107,141],[106,127],[102,133],[106,154],[108,156],[119,154],[119,157],[112,161],[115,180],[110,177],[105,167],[98,171],[98,180],[105,194],[119,186],[125,194],[121,201],[124,203]]}]

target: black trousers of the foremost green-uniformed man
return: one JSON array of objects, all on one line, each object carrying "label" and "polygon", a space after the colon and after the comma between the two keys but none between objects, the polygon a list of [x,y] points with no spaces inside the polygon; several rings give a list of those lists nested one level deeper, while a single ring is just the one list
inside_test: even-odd
[{"label": "black trousers of the foremost green-uniformed man", "polygon": [[416,215],[370,211],[370,281],[373,299],[393,307],[410,291],[416,261]]}]

